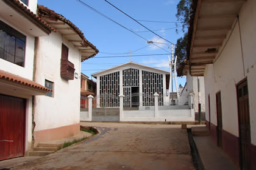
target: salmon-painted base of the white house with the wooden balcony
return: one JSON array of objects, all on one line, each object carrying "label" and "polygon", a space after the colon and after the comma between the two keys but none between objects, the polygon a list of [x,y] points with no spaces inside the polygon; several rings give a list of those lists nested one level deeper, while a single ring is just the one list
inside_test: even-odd
[{"label": "salmon-painted base of the white house with the wooden balcony", "polygon": [[71,124],[68,126],[57,127],[53,129],[46,129],[43,131],[35,131],[35,144],[41,143],[44,141],[59,140],[62,138],[72,137],[79,134],[80,123]]}]

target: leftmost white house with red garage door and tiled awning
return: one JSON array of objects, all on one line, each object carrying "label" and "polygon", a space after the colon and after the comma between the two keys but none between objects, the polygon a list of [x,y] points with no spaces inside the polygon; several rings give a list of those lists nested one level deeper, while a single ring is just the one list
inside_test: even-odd
[{"label": "leftmost white house with red garage door and tiled awning", "polygon": [[53,29],[36,12],[36,1],[0,1],[0,160],[30,149],[32,97],[49,91],[34,80],[34,44]]}]

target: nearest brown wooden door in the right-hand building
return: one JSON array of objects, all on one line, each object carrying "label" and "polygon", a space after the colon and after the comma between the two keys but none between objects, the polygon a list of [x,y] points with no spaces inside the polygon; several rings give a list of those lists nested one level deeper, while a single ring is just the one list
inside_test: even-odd
[{"label": "nearest brown wooden door in the right-hand building", "polygon": [[241,169],[250,169],[251,127],[247,80],[237,86]]}]

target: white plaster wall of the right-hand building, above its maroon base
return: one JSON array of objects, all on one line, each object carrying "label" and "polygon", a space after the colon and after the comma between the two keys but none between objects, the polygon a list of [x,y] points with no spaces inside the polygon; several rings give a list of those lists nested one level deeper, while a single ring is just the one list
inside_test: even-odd
[{"label": "white plaster wall of the right-hand building, above its maroon base", "polygon": [[[243,44],[244,70],[240,33],[238,22],[236,22],[230,39],[218,60],[216,60],[214,64],[208,65],[205,69],[205,100],[207,101],[206,118],[209,120],[208,94],[210,94],[211,122],[217,125],[216,92],[221,91],[223,129],[235,136],[238,136],[236,84],[247,77],[251,120],[251,141],[252,144],[256,144],[256,1],[248,0],[245,2],[239,15],[241,41]],[[225,42],[223,44],[225,44]]]}]

